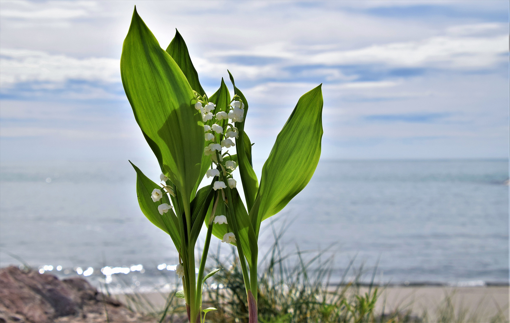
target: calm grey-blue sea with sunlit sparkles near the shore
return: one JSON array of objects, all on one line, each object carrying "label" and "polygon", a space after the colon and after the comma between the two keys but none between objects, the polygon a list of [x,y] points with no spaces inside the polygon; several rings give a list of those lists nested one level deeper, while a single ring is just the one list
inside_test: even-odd
[{"label": "calm grey-blue sea with sunlit sparkles near the shore", "polygon": [[[154,162],[138,166],[159,180]],[[0,266],[113,292],[169,288],[177,253],[140,211],[135,183],[127,161],[2,163]],[[321,160],[263,222],[259,259],[279,235],[289,262],[320,255],[310,270],[327,265],[331,283],[362,273],[381,285],[507,285],[508,229],[506,159]],[[213,237],[210,253],[228,262],[233,252]]]}]

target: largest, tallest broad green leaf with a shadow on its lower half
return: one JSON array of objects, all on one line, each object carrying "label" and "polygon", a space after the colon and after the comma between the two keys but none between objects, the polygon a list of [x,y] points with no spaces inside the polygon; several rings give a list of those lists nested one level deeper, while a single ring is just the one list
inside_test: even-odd
[{"label": "largest, tallest broad green leaf with a shadow on its lower half", "polygon": [[193,90],[138,13],[122,46],[122,85],[135,119],[185,205],[200,175],[204,136]]}]

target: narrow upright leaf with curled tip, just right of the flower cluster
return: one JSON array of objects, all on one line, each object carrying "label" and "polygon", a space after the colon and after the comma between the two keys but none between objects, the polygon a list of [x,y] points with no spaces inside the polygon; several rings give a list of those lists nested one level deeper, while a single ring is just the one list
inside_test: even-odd
[{"label": "narrow upright leaf with curled tip, just right of the flower cluster", "polygon": [[[234,77],[231,72],[228,71],[228,75],[230,76],[230,80],[232,81],[232,85],[234,85],[234,93],[241,97],[241,100],[244,103],[244,120],[246,120],[246,114],[248,113],[248,102],[244,97],[243,93],[236,87],[234,83]],[[244,121],[236,122],[236,128],[239,130],[239,138],[236,139],[236,150],[237,150],[237,159],[239,164],[239,175],[241,176],[241,182],[243,183],[244,197],[246,199],[246,206],[248,207],[248,211],[251,210],[253,203],[255,201],[255,197],[257,195],[257,191],[259,189],[259,181],[257,179],[257,175],[251,166],[251,145],[249,147],[250,156],[246,155],[246,147],[244,139]],[[249,138],[247,140],[249,142]]]}]

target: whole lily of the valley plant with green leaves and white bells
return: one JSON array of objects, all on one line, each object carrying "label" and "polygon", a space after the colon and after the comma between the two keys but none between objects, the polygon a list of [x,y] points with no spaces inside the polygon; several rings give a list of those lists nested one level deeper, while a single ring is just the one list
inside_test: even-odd
[{"label": "whole lily of the valley plant with green leaves and white bells", "polygon": [[[162,171],[158,185],[133,165],[138,202],[179,252],[176,272],[184,290],[177,296],[186,300],[190,322],[203,321],[205,313],[214,310],[201,308],[203,282],[219,270],[204,276],[211,235],[237,247],[249,321],[257,322],[261,222],[282,210],[312,178],[321,151],[321,86],[299,98],[259,183],[252,168],[252,143],[244,132],[248,102],[230,72],[234,96],[223,79],[208,96],[179,32],[165,51],[136,8],[122,47],[120,71],[135,119]],[[226,151],[233,147],[236,154]],[[205,176],[211,183],[198,190]],[[239,179],[244,202],[236,188]],[[203,223],[207,235],[196,274],[195,243]]]}]

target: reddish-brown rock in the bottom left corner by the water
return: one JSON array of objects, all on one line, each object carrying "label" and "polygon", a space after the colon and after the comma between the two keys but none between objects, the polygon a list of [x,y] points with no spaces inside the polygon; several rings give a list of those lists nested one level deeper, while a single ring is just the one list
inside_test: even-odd
[{"label": "reddish-brown rock in the bottom left corner by the water", "polygon": [[0,323],[106,321],[146,320],[82,278],[59,280],[15,266],[0,269]]}]

